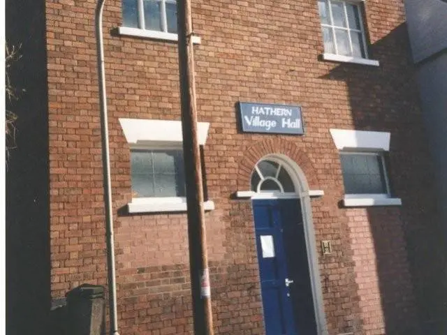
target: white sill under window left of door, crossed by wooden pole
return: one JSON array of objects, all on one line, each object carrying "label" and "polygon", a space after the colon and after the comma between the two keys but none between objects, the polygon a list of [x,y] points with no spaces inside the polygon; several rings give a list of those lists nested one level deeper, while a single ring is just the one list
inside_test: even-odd
[{"label": "white sill under window left of door, crossed by wooden pole", "polygon": [[[186,211],[186,198],[135,198],[127,204],[129,213],[154,213],[162,211]],[[211,200],[203,202],[205,211],[214,209]]]}]

